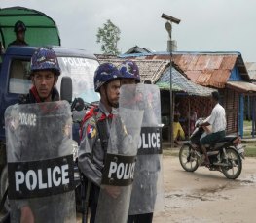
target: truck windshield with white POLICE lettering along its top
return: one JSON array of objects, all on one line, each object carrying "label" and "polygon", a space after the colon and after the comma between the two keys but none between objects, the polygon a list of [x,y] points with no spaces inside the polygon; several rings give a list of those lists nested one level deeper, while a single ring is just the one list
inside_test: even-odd
[{"label": "truck windshield with white POLICE lettering along its top", "polygon": [[99,101],[99,94],[94,91],[93,77],[98,62],[88,58],[58,57],[61,68],[60,80],[57,88],[60,89],[61,77],[69,76],[73,83],[73,99],[83,98],[85,102]]}]

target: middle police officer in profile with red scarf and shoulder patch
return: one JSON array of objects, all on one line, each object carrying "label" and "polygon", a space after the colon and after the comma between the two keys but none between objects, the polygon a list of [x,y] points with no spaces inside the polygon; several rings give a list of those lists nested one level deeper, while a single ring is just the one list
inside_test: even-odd
[{"label": "middle police officer in profile with red scarf and shoulder patch", "polygon": [[[120,94],[120,73],[113,64],[99,65],[94,74],[94,90],[100,94],[100,102],[83,120],[78,154],[79,168],[91,181],[91,223],[95,221],[111,118],[118,107]],[[113,198],[120,194],[120,190],[112,186],[105,186],[104,190]]]}]

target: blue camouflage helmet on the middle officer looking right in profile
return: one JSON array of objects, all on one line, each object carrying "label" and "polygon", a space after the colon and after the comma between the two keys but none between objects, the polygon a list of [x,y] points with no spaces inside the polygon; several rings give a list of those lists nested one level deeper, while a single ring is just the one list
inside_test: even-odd
[{"label": "blue camouflage helmet on the middle officer looking right in profile", "polygon": [[94,74],[94,90],[99,92],[99,88],[111,81],[120,79],[121,75],[119,70],[112,63],[100,64]]}]

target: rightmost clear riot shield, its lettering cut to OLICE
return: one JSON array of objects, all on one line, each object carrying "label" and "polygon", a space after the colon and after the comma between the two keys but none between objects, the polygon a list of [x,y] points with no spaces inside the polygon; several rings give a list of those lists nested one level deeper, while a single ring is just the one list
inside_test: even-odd
[{"label": "rightmost clear riot shield, its lettering cut to OLICE", "polygon": [[137,90],[140,91],[137,100],[145,112],[128,215],[164,209],[160,90],[149,84],[137,84]]}]

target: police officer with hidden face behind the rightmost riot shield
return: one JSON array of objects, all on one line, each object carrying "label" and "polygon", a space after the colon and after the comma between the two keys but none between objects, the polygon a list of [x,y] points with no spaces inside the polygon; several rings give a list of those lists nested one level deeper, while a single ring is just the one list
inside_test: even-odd
[{"label": "police officer with hidden face behind the rightmost riot shield", "polygon": [[[123,62],[120,65],[119,70],[122,76],[121,85],[137,84],[140,82],[139,69],[134,61],[127,60]],[[145,105],[148,104],[147,102],[145,102],[145,100],[148,101],[148,98],[151,98],[151,96],[152,95],[148,94],[146,95],[147,98],[144,98],[144,96],[141,95],[141,97],[133,99],[136,101],[139,100],[140,103],[136,103],[141,104],[141,107],[145,108],[143,117],[144,121],[146,119],[154,119],[153,116],[151,115],[151,112],[149,112],[149,108],[147,109],[147,106],[145,107]],[[147,157],[147,159],[145,159],[145,157]],[[129,204],[128,223],[151,223],[153,220],[153,209],[156,199],[155,186],[157,182],[155,173],[159,169],[159,159],[156,156],[152,156],[150,159],[150,166],[153,166],[151,167],[151,169],[154,170],[153,175],[150,174],[150,171],[145,174],[145,172],[147,172],[148,163],[148,155],[142,155],[138,151],[138,157],[134,171],[134,182],[132,185],[131,200]],[[152,185],[149,186],[148,184]],[[145,196],[145,194],[147,195]],[[140,206],[139,208],[141,208],[141,211],[137,209],[137,206]],[[139,212],[139,214],[134,213],[137,211]]]}]

